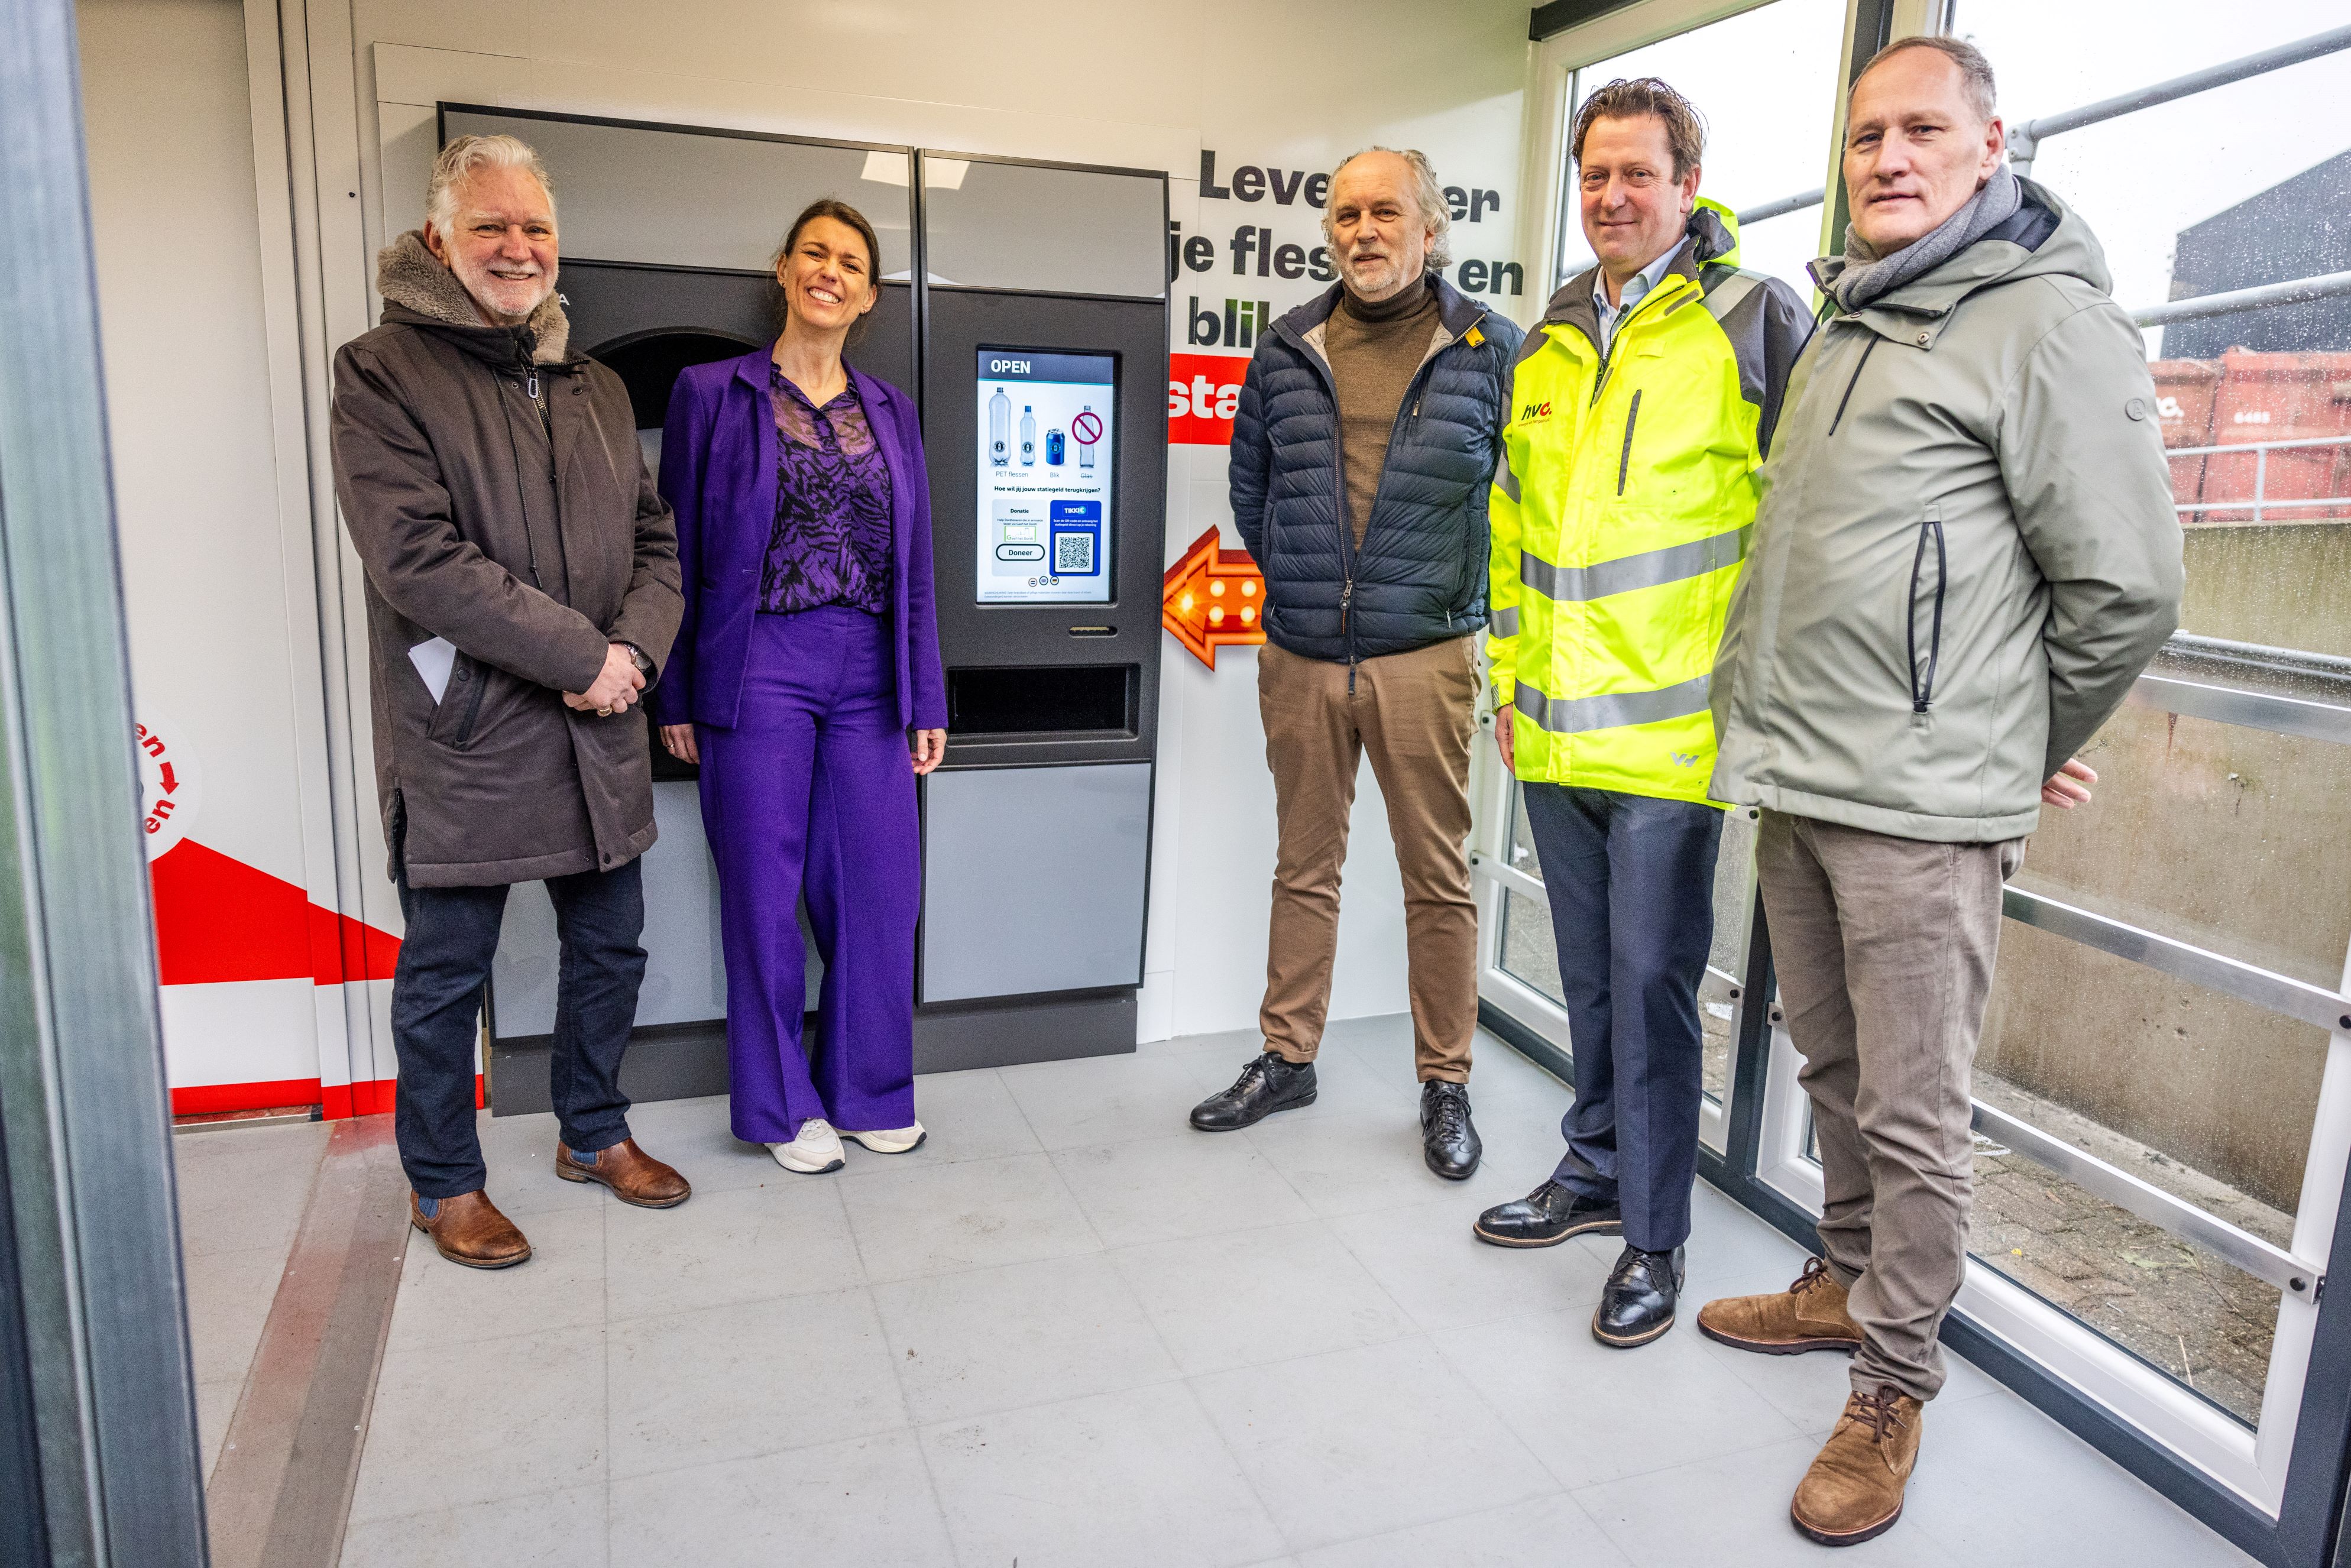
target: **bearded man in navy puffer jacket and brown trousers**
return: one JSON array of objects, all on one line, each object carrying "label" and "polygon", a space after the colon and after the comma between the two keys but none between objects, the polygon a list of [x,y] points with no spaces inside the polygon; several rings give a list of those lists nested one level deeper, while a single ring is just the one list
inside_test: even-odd
[{"label": "bearded man in navy puffer jacket and brown trousers", "polygon": [[1340,282],[1274,322],[1241,386],[1232,517],[1265,571],[1258,708],[1281,849],[1265,1051],[1192,1126],[1232,1131],[1314,1100],[1347,818],[1371,752],[1404,872],[1422,1150],[1465,1180],[1479,1161],[1467,837],[1486,489],[1521,334],[1439,275],[1446,230],[1427,158],[1345,160],[1324,212]]}]

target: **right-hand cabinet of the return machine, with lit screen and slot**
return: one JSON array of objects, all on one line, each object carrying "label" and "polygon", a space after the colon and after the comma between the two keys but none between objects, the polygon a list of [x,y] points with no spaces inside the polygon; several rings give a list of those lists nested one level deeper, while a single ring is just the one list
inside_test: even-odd
[{"label": "right-hand cabinet of the return machine, with lit screen and slot", "polygon": [[947,759],[917,1065],[1131,1051],[1166,536],[1166,176],[917,153]]}]

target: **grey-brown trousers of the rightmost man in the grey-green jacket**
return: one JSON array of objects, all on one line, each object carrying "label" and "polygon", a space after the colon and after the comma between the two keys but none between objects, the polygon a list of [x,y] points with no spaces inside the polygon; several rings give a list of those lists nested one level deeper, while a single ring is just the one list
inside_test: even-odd
[{"label": "grey-brown trousers of the rightmost man in the grey-green jacket", "polygon": [[1820,1138],[1820,1246],[1862,1328],[1855,1392],[1942,1389],[1968,1267],[1970,1079],[2001,938],[2005,844],[1928,844],[1766,811],[1756,877]]}]

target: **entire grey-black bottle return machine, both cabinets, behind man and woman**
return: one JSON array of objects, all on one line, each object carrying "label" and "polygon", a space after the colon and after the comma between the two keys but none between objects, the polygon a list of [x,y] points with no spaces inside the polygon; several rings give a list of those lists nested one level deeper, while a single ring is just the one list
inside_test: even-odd
[{"label": "entire grey-black bottle return machine, both cabinets, behind man and woman", "polygon": [[[538,148],[555,176],[571,341],[628,386],[656,470],[677,371],[773,339],[769,261],[799,209],[832,195],[872,221],[882,299],[846,355],[924,404],[952,726],[947,764],[922,790],[917,1070],[1133,1048],[1166,470],[1164,176],[440,108],[444,143],[496,132]],[[1027,240],[1013,221],[1034,223]],[[957,458],[940,451],[933,407],[940,329],[962,367],[959,395],[947,390]],[[978,339],[1034,339],[1025,371],[1006,364],[990,381],[1004,388],[1002,430],[978,397]],[[1006,477],[980,503],[990,468]],[[1009,531],[983,538],[999,527],[997,491]],[[980,609],[1018,614],[964,616]],[[1025,611],[1058,616],[1074,654]],[[623,1084],[639,1100],[722,1093],[726,976],[696,776],[658,743],[651,757],[661,842],[644,858],[649,964]],[[1079,875],[1089,867],[1098,875]],[[1016,940],[990,936],[990,907],[1020,912]],[[806,961],[813,1004],[813,945]],[[555,966],[555,912],[524,884],[491,973],[498,1114],[548,1107]]]}]

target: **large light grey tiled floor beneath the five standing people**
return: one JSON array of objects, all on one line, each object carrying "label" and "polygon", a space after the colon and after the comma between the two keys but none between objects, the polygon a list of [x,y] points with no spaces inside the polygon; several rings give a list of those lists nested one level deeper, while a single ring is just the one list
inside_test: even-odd
[{"label": "large light grey tiled floor beneath the five standing people", "polygon": [[[924,1079],[931,1140],[790,1175],[719,1100],[639,1140],[696,1197],[623,1208],[484,1119],[536,1258],[411,1246],[346,1568],[423,1563],[1820,1561],[1787,1497],[1836,1356],[1587,1321],[1615,1244],[1507,1253],[1476,1208],[1556,1157],[1566,1091],[1498,1041],[1486,1168],[1420,1166],[1408,1025],[1333,1025],[1321,1103],[1237,1135],[1183,1112],[1253,1037]],[[1700,1187],[1690,1295],[1799,1248]],[[2248,1561],[1982,1373],[1933,1406],[1907,1521],[1841,1561]]]}]

